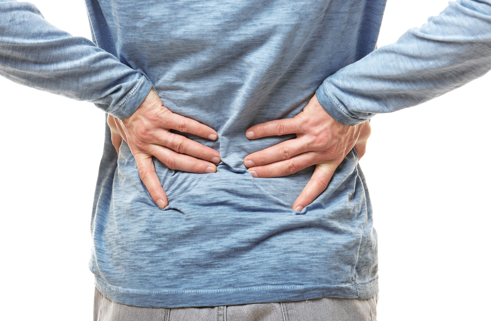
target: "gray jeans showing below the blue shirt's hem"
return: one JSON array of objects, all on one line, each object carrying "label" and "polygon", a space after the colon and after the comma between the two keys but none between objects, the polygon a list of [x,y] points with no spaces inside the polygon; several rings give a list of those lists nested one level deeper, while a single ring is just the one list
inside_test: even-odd
[{"label": "gray jeans showing below the blue shirt's hem", "polygon": [[111,301],[97,289],[94,321],[376,321],[378,294],[200,308],[143,308]]}]

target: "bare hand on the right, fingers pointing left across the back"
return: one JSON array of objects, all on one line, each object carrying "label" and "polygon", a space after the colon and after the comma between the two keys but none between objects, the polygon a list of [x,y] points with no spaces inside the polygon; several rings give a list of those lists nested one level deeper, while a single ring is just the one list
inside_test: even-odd
[{"label": "bare hand on the right, fingers pointing left across the back", "polygon": [[254,177],[280,177],[315,166],[310,181],[293,204],[301,212],[326,188],[337,166],[355,147],[360,159],[366,150],[371,128],[368,121],[356,126],[338,123],[314,95],[294,118],[273,120],[252,126],[249,139],[296,134],[297,138],[248,155],[244,165]]}]

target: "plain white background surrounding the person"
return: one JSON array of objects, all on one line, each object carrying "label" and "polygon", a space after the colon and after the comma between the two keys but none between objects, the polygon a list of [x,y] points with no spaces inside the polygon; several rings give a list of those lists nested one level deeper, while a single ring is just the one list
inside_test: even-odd
[{"label": "plain white background surrounding the person", "polygon": [[[82,0],[33,2],[55,26],[90,38]],[[389,0],[379,47],[446,4]],[[361,164],[379,234],[379,321],[483,320],[488,310],[490,80],[372,120]],[[104,114],[3,78],[0,92],[2,314],[91,320]]]}]

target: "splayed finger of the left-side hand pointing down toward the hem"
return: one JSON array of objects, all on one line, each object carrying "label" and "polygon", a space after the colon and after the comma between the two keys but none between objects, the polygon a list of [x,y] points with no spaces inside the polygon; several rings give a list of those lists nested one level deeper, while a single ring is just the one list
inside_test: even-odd
[{"label": "splayed finger of the left-side hand pointing down toward the hem", "polygon": [[155,172],[155,166],[151,155],[136,153],[135,160],[138,167],[138,174],[140,180],[147,189],[152,200],[162,210],[167,206],[167,195],[165,195],[164,188]]}]

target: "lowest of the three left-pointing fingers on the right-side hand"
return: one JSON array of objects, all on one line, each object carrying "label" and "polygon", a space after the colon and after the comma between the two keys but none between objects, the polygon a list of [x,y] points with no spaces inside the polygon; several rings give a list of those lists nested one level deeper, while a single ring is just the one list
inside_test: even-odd
[{"label": "lowest of the three left-pointing fingers on the right-side hand", "polygon": [[254,177],[281,177],[295,174],[296,172],[315,165],[320,160],[316,152],[307,152],[289,160],[276,161],[271,164],[254,166],[247,169]]}]

